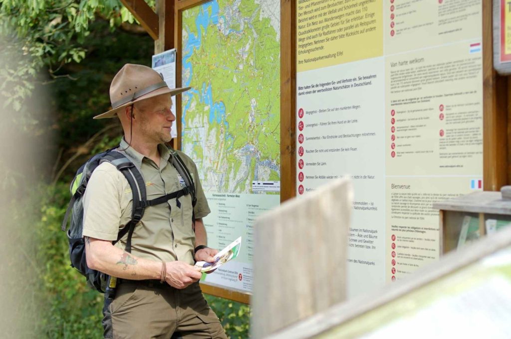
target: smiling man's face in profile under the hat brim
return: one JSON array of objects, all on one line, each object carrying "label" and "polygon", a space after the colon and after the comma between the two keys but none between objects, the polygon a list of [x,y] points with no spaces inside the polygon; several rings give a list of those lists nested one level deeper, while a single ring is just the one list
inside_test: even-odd
[{"label": "smiling man's face in profile under the hat brim", "polygon": [[169,142],[170,129],[176,116],[172,113],[172,98],[170,95],[159,95],[135,104],[135,114],[140,116],[140,133],[145,139],[158,144]]}]

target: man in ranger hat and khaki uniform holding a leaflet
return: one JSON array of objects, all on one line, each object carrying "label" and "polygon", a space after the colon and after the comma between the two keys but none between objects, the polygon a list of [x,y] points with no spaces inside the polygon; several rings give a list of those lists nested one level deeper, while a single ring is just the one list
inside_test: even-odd
[{"label": "man in ranger hat and khaki uniform holding a leaflet", "polygon": [[[112,110],[95,119],[118,116],[124,138],[120,151],[135,164],[146,181],[147,199],[182,189],[182,178],[165,146],[176,117],[173,95],[189,88],[169,89],[153,69],[126,64],[110,85]],[[217,316],[202,296],[201,277],[194,261],[212,262],[218,252],[206,247],[202,218],[210,213],[197,167],[178,152],[190,171],[197,203],[190,195],[146,207],[132,235],[115,245],[118,232],[131,220],[132,192],[115,166],[100,164],[88,181],[83,198],[83,236],[87,266],[119,278],[117,293],[105,305],[105,338],[225,338]],[[195,216],[195,230],[192,216]],[[174,335],[175,337],[175,335]]]}]

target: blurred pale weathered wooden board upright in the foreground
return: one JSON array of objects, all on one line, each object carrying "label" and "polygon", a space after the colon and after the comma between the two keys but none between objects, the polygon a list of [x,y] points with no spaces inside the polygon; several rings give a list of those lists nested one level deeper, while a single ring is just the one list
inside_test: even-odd
[{"label": "blurred pale weathered wooden board upright in the foreground", "polygon": [[351,182],[338,179],[283,203],[255,222],[254,338],[346,299],[352,202]]}]

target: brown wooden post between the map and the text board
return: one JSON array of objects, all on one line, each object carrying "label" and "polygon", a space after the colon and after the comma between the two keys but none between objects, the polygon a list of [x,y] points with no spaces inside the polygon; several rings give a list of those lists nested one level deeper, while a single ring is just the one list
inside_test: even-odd
[{"label": "brown wooden post between the map and the text board", "polygon": [[296,196],[296,0],[281,0],[281,202]]}]

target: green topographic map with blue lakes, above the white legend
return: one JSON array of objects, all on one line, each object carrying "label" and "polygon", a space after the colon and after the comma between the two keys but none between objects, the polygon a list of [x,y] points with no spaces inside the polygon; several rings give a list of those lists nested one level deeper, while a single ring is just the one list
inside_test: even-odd
[{"label": "green topographic map with blue lakes, above the white legend", "polygon": [[182,96],[182,150],[204,191],[253,193],[254,180],[280,181],[280,2],[186,10],[182,39],[182,84],[192,87]]}]

